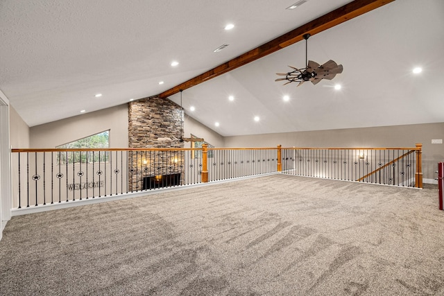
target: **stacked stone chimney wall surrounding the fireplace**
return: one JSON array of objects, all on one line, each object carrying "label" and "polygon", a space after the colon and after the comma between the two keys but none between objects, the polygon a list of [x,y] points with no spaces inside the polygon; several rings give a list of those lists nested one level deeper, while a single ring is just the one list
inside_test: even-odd
[{"label": "stacked stone chimney wall surrounding the fireplace", "polygon": [[[183,148],[182,108],[164,98],[150,97],[128,103],[129,148]],[[181,173],[183,152],[144,152],[128,154],[130,191],[142,190],[144,177]]]}]

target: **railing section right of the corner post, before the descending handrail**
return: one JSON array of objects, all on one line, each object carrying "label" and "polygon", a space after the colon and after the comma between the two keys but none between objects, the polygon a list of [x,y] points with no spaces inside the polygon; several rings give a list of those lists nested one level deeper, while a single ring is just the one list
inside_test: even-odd
[{"label": "railing section right of the corner post, before the descending handrail", "polygon": [[422,144],[413,148],[282,148],[282,173],[422,188]]}]

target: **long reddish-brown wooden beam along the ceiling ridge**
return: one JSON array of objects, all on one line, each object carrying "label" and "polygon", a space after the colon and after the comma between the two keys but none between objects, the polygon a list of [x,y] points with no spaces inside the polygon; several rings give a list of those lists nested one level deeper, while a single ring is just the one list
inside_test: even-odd
[{"label": "long reddish-brown wooden beam along the ceiling ridge", "polygon": [[205,82],[212,78],[215,78],[223,73],[227,73],[231,70],[234,70],[238,67],[244,66],[249,62],[253,62],[258,60],[259,58],[263,58],[270,53],[274,53],[275,51],[279,51],[284,47],[287,47],[291,44],[295,44],[303,40],[303,35],[309,33],[311,36],[316,35],[322,31],[327,30],[328,28],[332,28],[336,25],[342,24],[344,21],[348,21],[349,19],[353,19],[358,17],[359,15],[364,15],[364,13],[379,8],[381,6],[386,5],[395,0],[355,0],[344,6],[333,10],[332,12],[328,12],[326,15],[322,17],[318,17],[313,21],[309,21],[307,24],[300,26],[299,28],[293,29],[280,37],[277,37],[270,42],[266,42],[261,46],[252,49],[242,55],[239,55],[237,58],[229,60],[228,62],[224,62],[219,66],[206,71],[205,73],[200,74],[190,80],[182,82],[180,85],[168,89],[162,94],[159,94],[160,98],[167,98],[168,96],[172,96],[173,94],[177,94],[180,92],[180,89],[188,89],[189,87],[194,87],[199,83]]}]

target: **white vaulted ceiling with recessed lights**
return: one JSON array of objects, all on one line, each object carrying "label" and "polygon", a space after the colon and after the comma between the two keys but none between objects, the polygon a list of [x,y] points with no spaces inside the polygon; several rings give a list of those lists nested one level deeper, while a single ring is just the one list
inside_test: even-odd
[{"label": "white vaulted ceiling with recessed lights", "polygon": [[[286,9],[295,2],[3,0],[0,89],[29,126],[93,112],[164,93],[352,1]],[[182,105],[223,136],[444,122],[443,16],[441,0],[393,1],[310,37],[309,60],[343,64],[333,80],[274,81],[305,67],[300,41],[185,89]]]}]

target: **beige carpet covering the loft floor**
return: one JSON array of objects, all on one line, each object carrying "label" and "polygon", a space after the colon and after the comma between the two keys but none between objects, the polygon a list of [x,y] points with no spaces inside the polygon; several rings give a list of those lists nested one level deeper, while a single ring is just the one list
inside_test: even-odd
[{"label": "beige carpet covering the loft floor", "polygon": [[423,190],[271,175],[12,218],[1,295],[444,295]]}]

